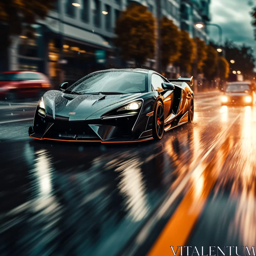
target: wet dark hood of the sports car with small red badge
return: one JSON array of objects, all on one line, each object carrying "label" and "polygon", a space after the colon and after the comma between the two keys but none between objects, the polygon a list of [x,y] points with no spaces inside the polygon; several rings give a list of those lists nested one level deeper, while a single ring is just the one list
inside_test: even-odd
[{"label": "wet dark hood of the sports car with small red badge", "polygon": [[69,121],[80,121],[100,118],[101,115],[111,109],[140,96],[141,93],[127,95],[75,95],[60,91],[48,91],[44,94],[43,101],[46,115],[53,118],[69,119]]}]

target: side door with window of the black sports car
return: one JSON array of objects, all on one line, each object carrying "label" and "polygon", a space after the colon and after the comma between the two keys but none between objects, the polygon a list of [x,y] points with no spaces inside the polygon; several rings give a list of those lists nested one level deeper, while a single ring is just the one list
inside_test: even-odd
[{"label": "side door with window of the black sports car", "polygon": [[162,83],[167,83],[163,77],[152,74],[151,85],[154,91],[160,92],[163,96],[164,101],[164,120],[171,115],[171,105],[172,105],[172,90],[164,90],[162,88]]}]

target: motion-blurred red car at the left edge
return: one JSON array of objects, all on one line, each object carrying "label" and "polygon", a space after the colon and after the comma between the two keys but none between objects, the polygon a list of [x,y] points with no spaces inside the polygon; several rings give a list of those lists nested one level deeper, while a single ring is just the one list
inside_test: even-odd
[{"label": "motion-blurred red car at the left edge", "polygon": [[47,76],[33,71],[8,71],[0,73],[0,98],[41,97],[51,89]]}]

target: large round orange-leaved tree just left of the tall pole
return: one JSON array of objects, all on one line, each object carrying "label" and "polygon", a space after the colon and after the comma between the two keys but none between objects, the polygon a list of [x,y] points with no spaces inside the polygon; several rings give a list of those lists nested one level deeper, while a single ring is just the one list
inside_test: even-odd
[{"label": "large round orange-leaved tree just left of the tall pole", "polygon": [[147,7],[131,4],[116,21],[115,33],[115,45],[125,60],[134,59],[141,67],[147,58],[154,58],[155,19]]}]

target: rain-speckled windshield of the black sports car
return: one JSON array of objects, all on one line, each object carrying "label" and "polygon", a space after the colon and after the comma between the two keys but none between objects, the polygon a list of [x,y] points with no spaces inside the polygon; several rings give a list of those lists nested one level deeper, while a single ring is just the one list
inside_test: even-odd
[{"label": "rain-speckled windshield of the black sports car", "polygon": [[84,77],[68,90],[77,93],[144,93],[148,92],[148,74],[128,71],[107,71]]}]

